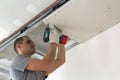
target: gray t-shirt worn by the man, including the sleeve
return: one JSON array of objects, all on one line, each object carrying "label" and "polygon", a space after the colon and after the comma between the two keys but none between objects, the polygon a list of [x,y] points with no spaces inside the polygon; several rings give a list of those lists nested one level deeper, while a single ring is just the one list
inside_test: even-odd
[{"label": "gray t-shirt worn by the man, including the sleeve", "polygon": [[32,59],[26,55],[17,55],[11,64],[10,77],[12,80],[45,80],[43,71],[26,70]]}]

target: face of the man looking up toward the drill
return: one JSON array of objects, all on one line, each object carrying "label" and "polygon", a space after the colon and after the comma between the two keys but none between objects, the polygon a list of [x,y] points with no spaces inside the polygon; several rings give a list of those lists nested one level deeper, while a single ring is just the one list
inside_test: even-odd
[{"label": "face of the man looking up toward the drill", "polygon": [[23,53],[30,55],[35,53],[34,43],[29,37],[23,37],[23,43],[21,46]]}]

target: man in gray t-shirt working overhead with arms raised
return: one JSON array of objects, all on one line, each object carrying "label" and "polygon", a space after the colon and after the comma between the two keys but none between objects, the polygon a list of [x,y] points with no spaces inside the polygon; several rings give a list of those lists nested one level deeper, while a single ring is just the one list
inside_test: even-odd
[{"label": "man in gray t-shirt working overhead with arms raised", "polygon": [[[57,58],[56,49],[58,48]],[[27,37],[19,37],[14,42],[17,56],[12,60],[10,76],[12,80],[45,80],[51,72],[65,62],[65,47],[59,43],[56,30],[50,33],[50,48],[42,60],[32,59],[35,53],[33,41]]]}]

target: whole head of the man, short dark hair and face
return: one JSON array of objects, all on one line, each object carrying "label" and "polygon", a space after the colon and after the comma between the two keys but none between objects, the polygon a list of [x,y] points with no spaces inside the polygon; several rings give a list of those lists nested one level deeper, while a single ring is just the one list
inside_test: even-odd
[{"label": "whole head of the man, short dark hair and face", "polygon": [[32,55],[35,53],[34,43],[28,36],[17,38],[14,42],[14,50],[18,54]]}]

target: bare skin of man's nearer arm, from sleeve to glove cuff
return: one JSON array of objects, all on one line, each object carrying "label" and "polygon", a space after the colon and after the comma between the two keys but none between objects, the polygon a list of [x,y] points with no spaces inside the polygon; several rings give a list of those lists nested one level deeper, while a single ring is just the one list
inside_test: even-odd
[{"label": "bare skin of man's nearer arm, from sleeve to glove cuff", "polygon": [[31,71],[49,71],[55,61],[56,47],[56,44],[51,44],[46,56],[42,60],[33,59],[26,69]]}]

